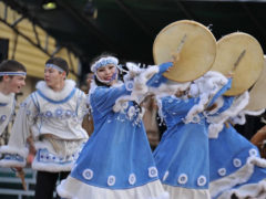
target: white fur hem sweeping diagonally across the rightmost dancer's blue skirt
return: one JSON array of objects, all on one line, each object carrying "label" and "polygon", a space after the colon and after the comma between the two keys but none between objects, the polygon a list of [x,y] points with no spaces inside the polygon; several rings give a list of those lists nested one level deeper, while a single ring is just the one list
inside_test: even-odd
[{"label": "white fur hem sweeping diagonally across the rightmost dancer's blue skirt", "polygon": [[266,160],[259,157],[252,156],[247,159],[246,165],[239,168],[237,171],[224,178],[211,181],[211,196],[216,197],[221,192],[232,189],[236,185],[246,182],[254,172],[254,166],[266,168]]}]

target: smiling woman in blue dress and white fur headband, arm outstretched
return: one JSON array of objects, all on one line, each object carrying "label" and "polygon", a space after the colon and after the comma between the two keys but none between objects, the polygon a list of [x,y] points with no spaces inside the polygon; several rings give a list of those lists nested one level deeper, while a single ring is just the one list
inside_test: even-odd
[{"label": "smiling woman in blue dress and white fur headband, arm outstretched", "polygon": [[167,198],[142,123],[144,112],[135,101],[146,94],[151,76],[157,72],[162,75],[171,65],[160,65],[160,72],[157,66],[131,71],[122,83],[116,57],[96,59],[91,66],[94,82],[89,93],[94,132],[71,175],[58,187],[61,197]]}]

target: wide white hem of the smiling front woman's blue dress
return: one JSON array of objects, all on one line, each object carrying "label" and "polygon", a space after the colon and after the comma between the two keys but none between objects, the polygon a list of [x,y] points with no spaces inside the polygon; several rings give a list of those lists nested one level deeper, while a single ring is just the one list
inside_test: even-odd
[{"label": "wide white hem of the smiling front woman's blue dress", "polygon": [[57,191],[65,199],[168,199],[160,180],[129,189],[106,189],[69,176],[57,187]]}]

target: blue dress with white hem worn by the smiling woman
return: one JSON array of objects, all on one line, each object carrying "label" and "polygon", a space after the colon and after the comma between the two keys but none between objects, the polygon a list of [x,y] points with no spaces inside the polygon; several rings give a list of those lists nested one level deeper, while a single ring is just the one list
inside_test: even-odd
[{"label": "blue dress with white hem worn by the smiling woman", "polygon": [[65,198],[156,198],[165,196],[158,180],[142,111],[133,102],[114,112],[115,101],[130,94],[125,85],[98,86],[90,94],[94,132],[72,169],[58,187]]}]

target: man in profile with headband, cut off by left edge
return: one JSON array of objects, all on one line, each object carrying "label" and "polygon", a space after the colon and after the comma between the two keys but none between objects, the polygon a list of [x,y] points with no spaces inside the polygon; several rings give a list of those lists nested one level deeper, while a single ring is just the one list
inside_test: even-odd
[{"label": "man in profile with headband, cut off by left edge", "polygon": [[14,60],[0,64],[0,135],[14,115],[14,94],[25,85],[25,67]]}]

